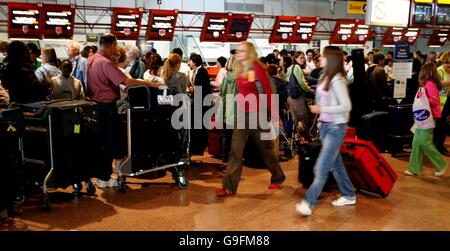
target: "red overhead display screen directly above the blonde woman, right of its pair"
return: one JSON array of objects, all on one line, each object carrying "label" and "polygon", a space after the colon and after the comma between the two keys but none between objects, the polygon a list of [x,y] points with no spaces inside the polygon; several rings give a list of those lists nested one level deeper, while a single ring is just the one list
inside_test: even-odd
[{"label": "red overhead display screen directly above the blonde woman, right of its pair", "polygon": [[231,17],[230,29],[227,35],[227,42],[246,41],[253,23],[253,15],[233,14]]}]

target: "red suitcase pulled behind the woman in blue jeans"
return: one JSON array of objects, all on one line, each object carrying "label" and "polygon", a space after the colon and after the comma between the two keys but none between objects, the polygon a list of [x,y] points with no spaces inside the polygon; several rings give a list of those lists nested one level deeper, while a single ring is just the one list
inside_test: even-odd
[{"label": "red suitcase pulled behind the woman in blue jeans", "polygon": [[348,176],[358,190],[388,196],[397,174],[372,142],[346,138],[340,152]]}]

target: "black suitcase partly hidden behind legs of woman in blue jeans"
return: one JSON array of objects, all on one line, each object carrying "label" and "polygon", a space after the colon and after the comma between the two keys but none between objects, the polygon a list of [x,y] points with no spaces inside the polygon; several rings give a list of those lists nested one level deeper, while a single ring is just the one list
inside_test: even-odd
[{"label": "black suitcase partly hidden behind legs of woman in blue jeans", "polygon": [[[309,188],[314,181],[314,165],[319,157],[321,148],[322,143],[320,141],[302,144],[299,147],[298,181],[305,188]],[[332,184],[335,184],[335,181],[330,174],[325,187],[329,188]]]}]

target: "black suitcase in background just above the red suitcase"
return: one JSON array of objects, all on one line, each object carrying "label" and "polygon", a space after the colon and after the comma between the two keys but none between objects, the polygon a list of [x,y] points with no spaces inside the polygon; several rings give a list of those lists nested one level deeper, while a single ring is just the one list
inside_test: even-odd
[{"label": "black suitcase in background just above the red suitcase", "polygon": [[359,139],[372,141],[380,152],[389,148],[387,133],[390,116],[388,112],[372,112],[361,117],[356,126],[356,135]]}]

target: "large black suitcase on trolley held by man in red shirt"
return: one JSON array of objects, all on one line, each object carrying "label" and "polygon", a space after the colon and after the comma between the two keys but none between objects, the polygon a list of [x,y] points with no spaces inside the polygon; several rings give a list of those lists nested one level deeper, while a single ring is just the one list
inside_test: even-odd
[{"label": "large black suitcase on trolley held by man in red shirt", "polygon": [[[167,93],[170,96],[173,93]],[[174,111],[171,104],[160,104],[163,90],[137,86],[128,90],[132,173],[162,165],[177,163],[186,155],[184,129],[171,124]]]}]

